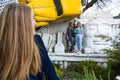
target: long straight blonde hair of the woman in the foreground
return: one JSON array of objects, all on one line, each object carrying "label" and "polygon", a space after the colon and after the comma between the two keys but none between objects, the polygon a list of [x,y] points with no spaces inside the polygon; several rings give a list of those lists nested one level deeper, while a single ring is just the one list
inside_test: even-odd
[{"label": "long straight blonde hair of the woman in the foreground", "polygon": [[31,9],[18,3],[8,4],[0,16],[0,80],[27,80],[40,70]]}]

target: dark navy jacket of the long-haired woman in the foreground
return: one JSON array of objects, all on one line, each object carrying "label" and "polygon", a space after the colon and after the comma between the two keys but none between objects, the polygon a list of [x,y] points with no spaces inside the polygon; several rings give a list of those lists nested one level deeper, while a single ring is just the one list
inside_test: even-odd
[{"label": "dark navy jacket of the long-haired woman in the foreground", "polygon": [[57,77],[54,66],[49,59],[48,52],[44,46],[43,40],[39,35],[35,35],[35,42],[40,49],[40,55],[42,59],[42,69],[36,76],[30,75],[30,80],[43,80],[43,75],[45,75],[46,80],[59,80]]}]

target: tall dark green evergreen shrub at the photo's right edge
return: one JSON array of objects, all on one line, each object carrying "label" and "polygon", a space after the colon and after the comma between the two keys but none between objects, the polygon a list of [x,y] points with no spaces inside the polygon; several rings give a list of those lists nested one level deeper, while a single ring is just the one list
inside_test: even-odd
[{"label": "tall dark green evergreen shrub at the photo's right edge", "polygon": [[110,79],[114,80],[117,75],[120,75],[120,33],[114,38],[109,39],[112,48],[104,49],[108,57],[108,68],[110,71]]}]

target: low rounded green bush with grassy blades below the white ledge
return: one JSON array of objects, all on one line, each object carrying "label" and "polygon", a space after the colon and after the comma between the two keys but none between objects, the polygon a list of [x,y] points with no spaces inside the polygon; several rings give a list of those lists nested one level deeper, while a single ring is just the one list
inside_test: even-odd
[{"label": "low rounded green bush with grassy blades below the white ledge", "polygon": [[[108,68],[103,68],[94,61],[72,63],[64,70],[64,78],[66,80],[108,80],[109,75]],[[87,79],[88,77],[89,79]]]}]

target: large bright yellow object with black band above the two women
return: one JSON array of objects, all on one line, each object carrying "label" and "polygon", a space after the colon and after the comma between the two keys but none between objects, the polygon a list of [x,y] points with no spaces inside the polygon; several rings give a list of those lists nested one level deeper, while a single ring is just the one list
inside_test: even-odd
[{"label": "large bright yellow object with black band above the two women", "polygon": [[32,8],[37,27],[49,22],[62,22],[75,18],[82,13],[80,0],[19,0]]}]

